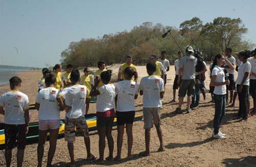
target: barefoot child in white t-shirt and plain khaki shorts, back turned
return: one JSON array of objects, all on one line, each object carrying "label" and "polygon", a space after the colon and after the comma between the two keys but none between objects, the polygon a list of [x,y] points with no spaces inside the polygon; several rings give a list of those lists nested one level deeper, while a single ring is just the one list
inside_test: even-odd
[{"label": "barefoot child in white t-shirt and plain khaki shorts, back turned", "polygon": [[160,147],[158,151],[164,151],[162,130],[160,127],[160,107],[161,99],[164,95],[164,81],[162,78],[153,76],[156,71],[156,64],[148,62],[146,64],[147,77],[140,81],[140,95],[143,95],[143,119],[145,129],[146,150],[141,153],[142,156],[150,155],[150,130],[155,125],[157,129]]}]

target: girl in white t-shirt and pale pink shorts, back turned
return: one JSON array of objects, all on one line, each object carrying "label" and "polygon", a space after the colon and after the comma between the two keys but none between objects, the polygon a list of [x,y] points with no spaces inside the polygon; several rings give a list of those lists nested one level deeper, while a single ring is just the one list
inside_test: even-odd
[{"label": "girl in white t-shirt and pale pink shorts, back turned", "polygon": [[56,97],[60,90],[56,89],[56,78],[52,73],[45,76],[46,88],[37,93],[35,108],[39,111],[39,138],[37,146],[38,165],[42,165],[44,156],[44,145],[48,130],[50,130],[50,147],[48,152],[47,166],[51,166],[52,159],[56,150],[56,142],[59,132],[60,114]]}]

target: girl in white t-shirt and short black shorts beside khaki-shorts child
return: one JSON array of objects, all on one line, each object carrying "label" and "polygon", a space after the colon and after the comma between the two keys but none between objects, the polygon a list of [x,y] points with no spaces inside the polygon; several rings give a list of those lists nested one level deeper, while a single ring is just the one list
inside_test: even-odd
[{"label": "girl in white t-shirt and short black shorts beside khaki-shorts child", "polygon": [[[137,81],[138,73],[132,67],[126,67],[123,72],[125,80],[117,83],[116,86],[116,117],[117,117],[117,156],[115,160],[121,159],[123,144],[124,125],[127,134],[127,158],[132,156],[133,146],[133,121],[135,116],[135,99],[138,98],[139,84]],[[134,77],[134,78],[133,78]],[[132,81],[134,80],[134,81]]]}]

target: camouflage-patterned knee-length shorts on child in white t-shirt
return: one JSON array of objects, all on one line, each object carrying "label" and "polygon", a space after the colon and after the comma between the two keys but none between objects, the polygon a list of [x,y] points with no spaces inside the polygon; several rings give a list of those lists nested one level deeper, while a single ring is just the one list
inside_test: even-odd
[{"label": "camouflage-patterned knee-length shorts on child in white t-shirt", "polygon": [[[89,130],[84,116],[78,118],[68,118],[65,120],[65,140],[68,142],[75,141],[76,130],[81,130],[84,137],[89,137]],[[76,127],[76,130],[75,130]]]}]

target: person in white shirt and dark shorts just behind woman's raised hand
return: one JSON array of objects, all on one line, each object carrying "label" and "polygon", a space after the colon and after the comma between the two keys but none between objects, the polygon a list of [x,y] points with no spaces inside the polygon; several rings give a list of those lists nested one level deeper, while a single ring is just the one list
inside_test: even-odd
[{"label": "person in white shirt and dark shorts just behind woman's raised hand", "polygon": [[[232,54],[232,49],[230,47],[228,47],[226,49],[226,59],[232,64],[236,64],[236,59],[231,55]],[[229,80],[229,85],[227,85],[227,94],[226,94],[226,100],[227,100],[227,104],[232,103],[233,101],[233,92],[234,89],[236,87],[236,83],[234,82],[234,69],[229,69],[227,63],[225,63],[225,68],[227,70],[228,73],[228,80]],[[230,91],[230,101],[228,103],[228,90]]]}]

